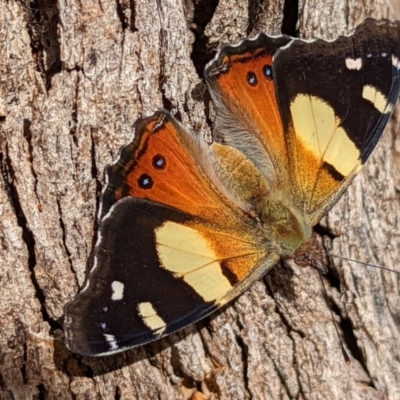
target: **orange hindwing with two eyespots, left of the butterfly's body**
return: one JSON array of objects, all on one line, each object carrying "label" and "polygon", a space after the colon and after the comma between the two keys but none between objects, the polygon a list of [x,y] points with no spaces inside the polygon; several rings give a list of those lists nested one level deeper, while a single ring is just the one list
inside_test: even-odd
[{"label": "orange hindwing with two eyespots, left of the butterfly's body", "polygon": [[[116,188],[115,201],[131,196],[162,203],[202,219],[215,217],[212,214],[218,210],[220,218],[229,219],[233,210],[226,200],[221,200],[221,194],[200,170],[188,151],[187,141],[179,125],[166,114],[156,113],[141,120],[134,141],[109,171],[109,186]],[[124,157],[124,152],[129,157]],[[117,178],[120,181],[113,182]]]}]

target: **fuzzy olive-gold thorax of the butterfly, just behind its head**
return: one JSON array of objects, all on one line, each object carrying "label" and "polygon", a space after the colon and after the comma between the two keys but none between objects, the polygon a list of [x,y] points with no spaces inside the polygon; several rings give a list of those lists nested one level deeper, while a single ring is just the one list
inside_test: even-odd
[{"label": "fuzzy olive-gold thorax of the butterfly, just behind its head", "polygon": [[285,257],[307,243],[312,227],[290,199],[263,198],[256,208],[262,234]]}]

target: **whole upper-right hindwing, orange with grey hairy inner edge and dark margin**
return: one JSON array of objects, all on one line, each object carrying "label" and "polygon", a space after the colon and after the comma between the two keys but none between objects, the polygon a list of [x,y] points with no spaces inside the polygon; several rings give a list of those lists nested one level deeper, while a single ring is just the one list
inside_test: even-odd
[{"label": "whole upper-right hindwing, orange with grey hairy inner edge and dark margin", "polygon": [[204,73],[217,109],[215,131],[246,154],[270,183],[282,186],[288,182],[288,154],[272,58],[291,40],[260,34],[238,46],[223,46]]}]

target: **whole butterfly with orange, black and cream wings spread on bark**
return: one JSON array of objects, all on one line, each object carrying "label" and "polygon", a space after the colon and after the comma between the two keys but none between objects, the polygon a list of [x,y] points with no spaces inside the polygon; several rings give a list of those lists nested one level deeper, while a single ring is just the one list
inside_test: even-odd
[{"label": "whole butterfly with orange, black and cream wings spread on bark", "polygon": [[106,170],[93,267],[65,307],[68,348],[159,339],[302,254],[390,118],[399,59],[399,22],[367,19],[331,42],[261,33],[205,68],[212,143],[165,110],[138,120]]}]

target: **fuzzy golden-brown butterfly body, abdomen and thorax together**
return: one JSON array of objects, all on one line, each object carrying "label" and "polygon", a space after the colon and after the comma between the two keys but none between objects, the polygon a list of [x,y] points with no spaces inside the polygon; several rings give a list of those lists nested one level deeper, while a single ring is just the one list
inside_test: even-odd
[{"label": "fuzzy golden-brown butterfly body, abdomen and thorax together", "polygon": [[309,241],[311,226],[281,185],[276,187],[241,151],[218,143],[213,143],[212,150],[216,186],[257,218],[260,234],[272,250],[288,256]]}]

